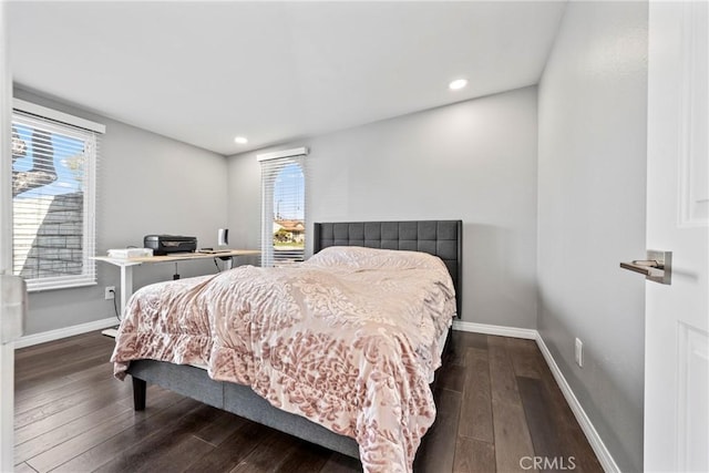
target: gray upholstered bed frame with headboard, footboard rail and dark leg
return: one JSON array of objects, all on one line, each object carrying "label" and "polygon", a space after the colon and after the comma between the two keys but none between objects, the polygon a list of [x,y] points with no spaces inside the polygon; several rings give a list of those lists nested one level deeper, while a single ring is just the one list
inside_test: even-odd
[{"label": "gray upholstered bed frame with headboard, footboard rail and dark leg", "polygon": [[[445,263],[453,278],[460,317],[462,229],[462,220],[315,224],[312,253],[329,246],[366,246],[435,255]],[[450,340],[449,336],[444,351],[449,350]],[[133,378],[133,402],[136,411],[145,409],[147,384],[158,384],[205,404],[359,459],[359,446],[353,439],[337,434],[304,417],[274,408],[250,387],[215,381],[204,369],[164,361],[136,360],[131,361],[127,372]]]}]

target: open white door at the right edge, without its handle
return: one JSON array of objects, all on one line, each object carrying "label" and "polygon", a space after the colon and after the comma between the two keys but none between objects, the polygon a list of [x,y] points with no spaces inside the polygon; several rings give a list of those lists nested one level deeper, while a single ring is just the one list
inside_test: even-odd
[{"label": "open white door at the right edge, without its handle", "polygon": [[649,3],[645,470],[709,471],[708,3]]}]

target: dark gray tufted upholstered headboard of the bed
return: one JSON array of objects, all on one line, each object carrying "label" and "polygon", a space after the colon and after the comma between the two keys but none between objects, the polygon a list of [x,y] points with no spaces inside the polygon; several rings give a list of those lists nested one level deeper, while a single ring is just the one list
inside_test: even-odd
[{"label": "dark gray tufted upholstered headboard of the bed", "polygon": [[329,246],[425,251],[445,263],[461,317],[463,220],[341,222],[315,224],[312,253]]}]

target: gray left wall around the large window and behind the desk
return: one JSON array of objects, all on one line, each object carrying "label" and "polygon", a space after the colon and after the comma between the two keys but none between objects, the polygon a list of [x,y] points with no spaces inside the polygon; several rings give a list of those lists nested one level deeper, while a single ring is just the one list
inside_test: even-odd
[{"label": "gray left wall around the large window and behind the desk", "polygon": [[[37,94],[14,96],[106,125],[97,172],[96,254],[143,246],[147,234],[196,236],[216,246],[226,223],[226,160],[207,152]],[[171,279],[174,265],[134,270],[134,286]],[[183,277],[215,271],[210,260],[179,265]],[[71,327],[114,316],[104,286],[120,286],[116,267],[97,264],[99,285],[30,295],[25,335]]]}]

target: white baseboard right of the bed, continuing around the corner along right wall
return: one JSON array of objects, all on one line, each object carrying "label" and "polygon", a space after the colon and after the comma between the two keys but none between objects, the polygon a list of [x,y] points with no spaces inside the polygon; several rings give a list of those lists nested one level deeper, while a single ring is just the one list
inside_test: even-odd
[{"label": "white baseboard right of the bed, continuing around the corner along right wall", "polygon": [[600,435],[598,435],[598,431],[596,431],[594,424],[590,422],[590,419],[588,419],[588,415],[586,415],[586,411],[584,411],[584,408],[582,408],[578,399],[576,399],[574,391],[572,391],[571,385],[566,381],[566,378],[564,378],[562,370],[558,368],[558,364],[556,364],[554,357],[552,357],[552,352],[546,347],[546,343],[544,343],[544,340],[542,339],[542,336],[538,331],[534,329],[521,329],[515,327],[466,322],[463,320],[454,320],[453,330],[535,340],[537,347],[540,347],[540,351],[542,351],[542,356],[544,356],[546,364],[549,367],[549,370],[552,371],[552,374],[554,376],[554,379],[558,384],[558,388],[564,394],[564,399],[566,399],[568,407],[574,412],[574,417],[580,425],[580,429],[584,431],[586,439],[588,439],[590,448],[594,449],[594,453],[596,453],[596,456],[600,462],[600,466],[603,466],[604,471],[606,471],[607,473],[620,473],[620,469],[616,464],[615,460],[613,460],[610,452],[606,448],[606,444],[603,443],[603,440],[600,439]]}]

